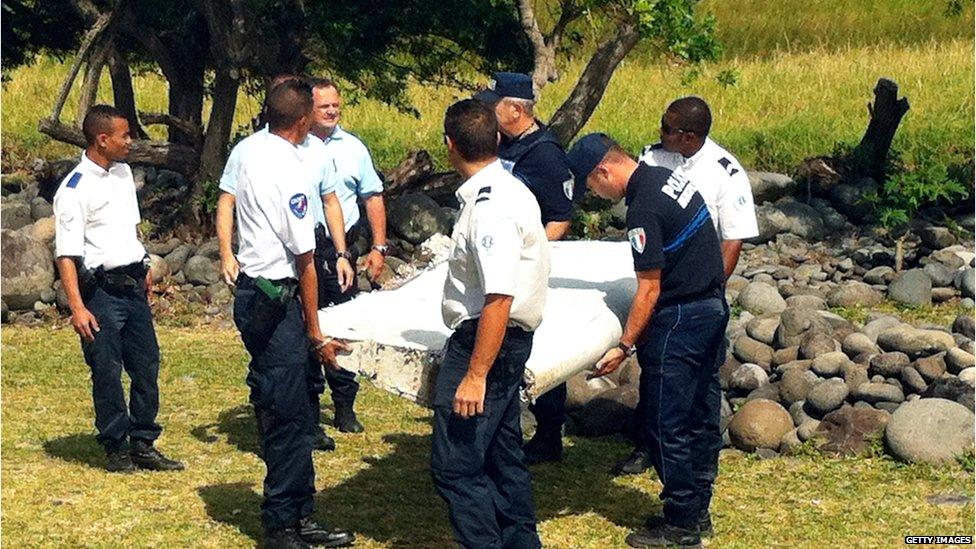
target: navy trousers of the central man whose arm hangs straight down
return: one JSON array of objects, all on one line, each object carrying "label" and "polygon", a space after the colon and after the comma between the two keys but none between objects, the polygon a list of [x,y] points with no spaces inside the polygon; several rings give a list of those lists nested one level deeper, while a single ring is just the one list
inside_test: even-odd
[{"label": "navy trousers of the central man whose arm hangs straight down", "polygon": [[453,411],[454,394],[468,371],[476,331],[477,320],[458,327],[437,374],[434,486],[448,504],[455,538],[463,547],[541,547],[519,422],[519,387],[532,333],[508,329],[488,373],[484,414],[462,419]]}]

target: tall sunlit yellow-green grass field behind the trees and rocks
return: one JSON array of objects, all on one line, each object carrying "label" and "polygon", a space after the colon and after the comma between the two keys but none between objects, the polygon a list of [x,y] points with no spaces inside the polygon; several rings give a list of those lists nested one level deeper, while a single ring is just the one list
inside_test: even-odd
[{"label": "tall sunlit yellow-green grass field behind the trees and rocks", "polygon": [[[911,102],[894,146],[911,165],[920,156],[942,163],[972,158],[974,146],[973,6],[955,17],[946,1],[910,0],[710,0],[723,58],[697,71],[636,49],[620,65],[584,132],[606,131],[638,151],[657,139],[661,112],[672,99],[699,94],[712,105],[714,137],[750,169],[790,171],[810,156],[829,154],[838,142],[857,142],[867,126],[865,108],[880,77],[898,82]],[[587,42],[602,32],[584,28]],[[603,29],[605,30],[605,29]],[[539,111],[550,116],[568,95],[586,59],[578,55],[560,67],[561,79],[543,91]],[[35,157],[77,154],[37,132],[48,116],[67,65],[42,57],[9,73],[3,88],[4,170],[28,166]],[[719,75],[734,75],[734,83]],[[134,82],[139,108],[166,108],[166,83],[157,72]],[[74,116],[77,90],[65,108]],[[344,124],[388,169],[411,150],[427,149],[447,169],[441,144],[444,109],[467,92],[410,86],[420,116],[397,112],[376,101],[349,106]],[[103,75],[101,100],[111,99]],[[243,127],[258,112],[254,98],[238,103]],[[151,128],[159,137],[161,127]]]}]

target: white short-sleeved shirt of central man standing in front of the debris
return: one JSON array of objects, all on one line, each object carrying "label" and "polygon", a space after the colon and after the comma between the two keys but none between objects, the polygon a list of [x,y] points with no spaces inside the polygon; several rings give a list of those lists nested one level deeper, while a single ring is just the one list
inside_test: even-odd
[{"label": "white short-sleeved shirt of central man standing in front of the debris", "polygon": [[497,160],[456,195],[461,212],[444,282],[444,324],[455,329],[480,317],[485,296],[501,294],[514,298],[509,324],[535,330],[549,285],[549,241],[535,197]]}]

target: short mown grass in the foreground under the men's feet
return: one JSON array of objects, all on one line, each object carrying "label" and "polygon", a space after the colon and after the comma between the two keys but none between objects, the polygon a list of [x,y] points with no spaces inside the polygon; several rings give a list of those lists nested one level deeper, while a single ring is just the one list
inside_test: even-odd
[{"label": "short mown grass in the foreground under the men's feet", "polygon": [[[229,329],[159,329],[160,447],[183,473],[112,475],[95,442],[88,369],[70,328],[4,327],[2,528],[11,547],[227,547],[259,542],[264,466],[244,385],[246,355]],[[316,453],[316,518],[354,530],[362,547],[444,547],[451,531],[428,473],[430,413],[364,383],[362,435]],[[326,411],[326,417],[331,415]],[[535,469],[547,547],[622,547],[658,511],[653,476],[615,479],[621,439],[569,438],[561,465]],[[901,545],[905,535],[970,535],[973,496],[960,465],[812,452],[757,460],[722,454],[712,547]]]}]

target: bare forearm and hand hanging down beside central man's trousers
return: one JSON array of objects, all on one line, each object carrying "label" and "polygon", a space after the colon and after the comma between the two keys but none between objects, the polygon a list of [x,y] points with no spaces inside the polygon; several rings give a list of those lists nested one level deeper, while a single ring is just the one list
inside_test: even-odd
[{"label": "bare forearm and hand hanging down beside central man's trousers", "polygon": [[485,380],[505,339],[513,300],[510,295],[485,296],[485,307],[478,319],[478,333],[475,336],[468,373],[454,393],[454,413],[464,419],[485,411]]}]

